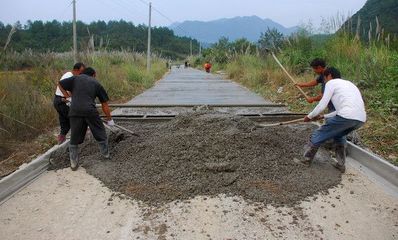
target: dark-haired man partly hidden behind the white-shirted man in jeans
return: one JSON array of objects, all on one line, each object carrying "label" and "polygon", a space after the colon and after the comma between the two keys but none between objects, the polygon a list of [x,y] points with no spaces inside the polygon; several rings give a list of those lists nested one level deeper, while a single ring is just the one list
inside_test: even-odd
[{"label": "dark-haired man partly hidden behind the white-shirted man in jeans", "polygon": [[[307,102],[309,103],[313,103],[313,102],[317,102],[320,101],[322,98],[322,94],[325,91],[325,76],[324,76],[324,71],[326,69],[326,62],[325,60],[321,59],[321,58],[315,58],[314,60],[312,60],[312,62],[310,63],[310,66],[312,67],[312,70],[314,71],[314,73],[318,74],[318,77],[313,79],[310,82],[306,82],[306,83],[297,83],[296,85],[299,87],[315,87],[318,84],[322,85],[322,93],[319,94],[316,97],[309,97],[307,98]],[[328,104],[328,109],[330,112],[333,112],[334,106],[333,104],[330,102]]]}]

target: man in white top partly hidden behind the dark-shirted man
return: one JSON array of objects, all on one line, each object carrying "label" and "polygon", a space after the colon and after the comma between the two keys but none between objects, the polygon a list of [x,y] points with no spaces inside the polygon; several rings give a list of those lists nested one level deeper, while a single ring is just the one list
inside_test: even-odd
[{"label": "man in white top partly hidden behind the dark-shirted man", "polygon": [[[63,81],[66,78],[70,78],[73,76],[80,75],[84,71],[84,64],[83,63],[76,63],[73,66],[73,69],[71,72],[66,72],[64,75],[62,75],[61,79],[59,81]],[[69,94],[71,96],[71,94]],[[55,110],[58,112],[58,120],[59,120],[59,125],[61,127],[61,131],[58,134],[58,144],[62,144],[66,140],[66,135],[69,132],[70,129],[70,123],[69,123],[69,105],[71,102],[71,98],[66,98],[64,94],[61,92],[59,87],[57,86],[57,90],[55,91],[55,96],[53,100],[53,105]]]}]

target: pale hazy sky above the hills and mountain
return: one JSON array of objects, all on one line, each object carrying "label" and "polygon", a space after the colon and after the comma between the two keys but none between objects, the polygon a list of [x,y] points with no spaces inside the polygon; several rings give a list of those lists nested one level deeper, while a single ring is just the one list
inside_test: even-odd
[{"label": "pale hazy sky above the hills and mountain", "polygon": [[[94,20],[147,23],[148,0],[76,0],[77,17]],[[72,0],[0,0],[0,21],[14,23],[27,20],[70,20]],[[347,16],[358,11],[366,0],[152,0],[156,11],[153,24],[167,26],[185,20],[214,20],[235,16],[257,15],[270,18],[286,27],[311,21],[315,26],[323,18]]]}]

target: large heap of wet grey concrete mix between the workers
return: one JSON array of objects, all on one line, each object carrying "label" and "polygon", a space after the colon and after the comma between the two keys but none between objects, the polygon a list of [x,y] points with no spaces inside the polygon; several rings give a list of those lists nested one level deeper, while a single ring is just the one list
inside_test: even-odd
[{"label": "large heap of wet grey concrete mix between the workers", "polygon": [[[139,137],[111,134],[111,160],[87,141],[82,166],[111,190],[150,205],[219,194],[293,205],[341,181],[326,150],[310,168],[294,163],[312,125],[256,128],[243,117],[204,112],[125,126]],[[67,153],[53,163],[68,167]]]}]

